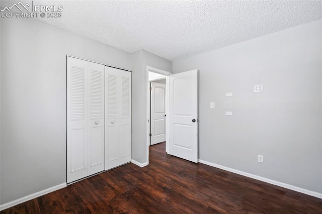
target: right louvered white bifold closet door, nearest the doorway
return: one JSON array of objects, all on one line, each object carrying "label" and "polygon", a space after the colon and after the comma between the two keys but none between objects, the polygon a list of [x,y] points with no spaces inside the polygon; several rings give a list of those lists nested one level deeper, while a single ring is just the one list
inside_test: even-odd
[{"label": "right louvered white bifold closet door, nearest the doorway", "polygon": [[105,170],[131,161],[131,72],[105,67]]}]

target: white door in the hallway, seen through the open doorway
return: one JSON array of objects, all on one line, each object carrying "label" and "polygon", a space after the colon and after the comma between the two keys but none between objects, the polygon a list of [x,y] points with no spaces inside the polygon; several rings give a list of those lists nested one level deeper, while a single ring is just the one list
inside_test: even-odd
[{"label": "white door in the hallway, seen through the open doorway", "polygon": [[166,84],[151,82],[151,145],[166,141]]}]

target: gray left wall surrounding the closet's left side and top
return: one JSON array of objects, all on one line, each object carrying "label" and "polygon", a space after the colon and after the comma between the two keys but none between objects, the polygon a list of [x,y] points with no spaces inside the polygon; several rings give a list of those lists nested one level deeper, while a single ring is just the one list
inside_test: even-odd
[{"label": "gray left wall surrounding the closet's left side and top", "polygon": [[66,54],[132,68],[127,52],[1,19],[1,204],[66,182]]}]

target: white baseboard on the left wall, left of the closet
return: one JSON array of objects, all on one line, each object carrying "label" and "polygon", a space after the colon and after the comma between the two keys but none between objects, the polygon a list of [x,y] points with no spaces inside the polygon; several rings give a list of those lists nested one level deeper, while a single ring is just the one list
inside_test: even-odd
[{"label": "white baseboard on the left wall, left of the closet", "polygon": [[42,195],[45,195],[45,194],[48,194],[50,192],[56,191],[58,189],[62,189],[64,187],[66,187],[66,186],[67,186],[66,183],[62,183],[62,184],[59,184],[57,186],[53,186],[53,187],[50,187],[48,189],[44,189],[44,190],[41,190],[39,192],[35,192],[33,194],[30,194],[30,195],[27,195],[25,197],[19,198],[17,200],[13,200],[13,201],[10,201],[8,203],[2,204],[2,205],[0,205],[0,211],[2,211],[4,209],[8,209],[8,208],[10,208],[12,206],[18,205],[20,203],[26,202],[28,200],[34,199],[36,197],[40,197]]}]

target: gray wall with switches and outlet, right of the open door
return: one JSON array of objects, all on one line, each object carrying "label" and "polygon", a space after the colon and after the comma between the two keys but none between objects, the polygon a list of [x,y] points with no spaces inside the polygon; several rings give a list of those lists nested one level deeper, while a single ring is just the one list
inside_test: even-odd
[{"label": "gray wall with switches and outlet, right of the open door", "polygon": [[[322,193],[321,26],[173,62],[174,73],[199,69],[201,160]],[[255,84],[264,92],[254,93]]]}]

